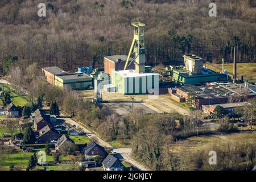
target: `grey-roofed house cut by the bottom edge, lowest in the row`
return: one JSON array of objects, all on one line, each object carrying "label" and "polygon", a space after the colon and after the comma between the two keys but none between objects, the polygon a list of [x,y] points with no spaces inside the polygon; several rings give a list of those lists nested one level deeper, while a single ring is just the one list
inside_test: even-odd
[{"label": "grey-roofed house cut by the bottom edge, lowest in the row", "polygon": [[121,161],[113,155],[108,155],[102,162],[104,171],[123,171],[124,166]]}]

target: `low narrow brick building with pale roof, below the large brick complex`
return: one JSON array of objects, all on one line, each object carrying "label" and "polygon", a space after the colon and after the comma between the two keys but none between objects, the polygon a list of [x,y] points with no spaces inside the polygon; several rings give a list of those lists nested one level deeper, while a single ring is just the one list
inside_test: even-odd
[{"label": "low narrow brick building with pale roof, below the large brick complex", "polygon": [[249,102],[233,102],[226,104],[212,104],[212,105],[202,105],[202,110],[204,113],[211,115],[214,113],[216,106],[222,106],[226,113],[233,113],[236,108],[249,105]]}]

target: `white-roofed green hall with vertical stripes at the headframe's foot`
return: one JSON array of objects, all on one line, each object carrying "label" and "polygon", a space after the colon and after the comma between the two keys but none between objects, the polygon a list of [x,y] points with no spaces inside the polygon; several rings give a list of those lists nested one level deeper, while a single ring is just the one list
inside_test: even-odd
[{"label": "white-roofed green hall with vertical stripes at the headframe's foot", "polygon": [[135,70],[112,72],[111,82],[122,94],[158,94],[158,73],[137,73]]}]

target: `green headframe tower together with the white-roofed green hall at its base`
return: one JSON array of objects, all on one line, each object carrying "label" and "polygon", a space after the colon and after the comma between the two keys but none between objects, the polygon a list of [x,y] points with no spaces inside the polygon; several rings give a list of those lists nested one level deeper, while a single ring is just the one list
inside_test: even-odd
[{"label": "green headframe tower together with the white-roofed green hall at its base", "polygon": [[[158,73],[145,72],[145,49],[144,49],[144,26],[140,22],[131,23],[134,29],[133,42],[131,43],[128,56],[126,58],[124,67],[122,59],[118,56],[106,57],[109,60],[118,60],[114,66],[105,65],[105,72],[111,73],[111,85],[105,86],[108,90],[117,90],[122,94],[158,94],[159,93],[159,75]],[[131,57],[134,57],[131,59]],[[134,62],[134,63],[133,63]],[[110,61],[107,61],[107,64]],[[116,67],[119,65],[120,67]],[[130,69],[134,65],[135,69]],[[129,67],[130,66],[130,67]],[[110,72],[110,68],[120,69]],[[146,67],[147,69],[148,68]],[[114,88],[113,88],[114,87]]]}]

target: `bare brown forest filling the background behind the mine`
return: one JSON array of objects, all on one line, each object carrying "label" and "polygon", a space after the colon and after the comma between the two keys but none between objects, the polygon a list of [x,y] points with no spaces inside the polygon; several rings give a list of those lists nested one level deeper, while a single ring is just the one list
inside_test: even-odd
[{"label": "bare brown forest filling the background behind the mine", "polygon": [[147,64],[179,61],[184,53],[232,62],[234,46],[239,62],[255,61],[254,0],[216,0],[216,17],[208,15],[208,0],[46,1],[46,17],[38,16],[40,2],[0,2],[1,65],[103,68],[104,56],[128,53],[137,21],[146,24]]}]

